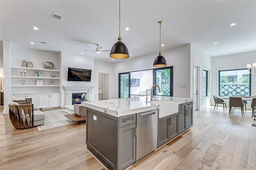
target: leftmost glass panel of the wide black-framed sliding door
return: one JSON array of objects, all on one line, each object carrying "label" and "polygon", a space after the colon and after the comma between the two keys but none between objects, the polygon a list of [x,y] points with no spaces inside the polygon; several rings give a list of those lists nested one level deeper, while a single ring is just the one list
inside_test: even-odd
[{"label": "leftmost glass panel of the wide black-framed sliding door", "polygon": [[119,98],[130,97],[130,73],[119,73]]}]

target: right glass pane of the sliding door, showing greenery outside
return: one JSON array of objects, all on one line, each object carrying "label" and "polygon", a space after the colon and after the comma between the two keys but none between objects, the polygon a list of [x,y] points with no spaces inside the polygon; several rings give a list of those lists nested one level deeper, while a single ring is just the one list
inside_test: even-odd
[{"label": "right glass pane of the sliding door, showing greenery outside", "polygon": [[156,89],[156,95],[170,96],[170,69],[156,70],[156,84],[159,85],[161,92]]}]

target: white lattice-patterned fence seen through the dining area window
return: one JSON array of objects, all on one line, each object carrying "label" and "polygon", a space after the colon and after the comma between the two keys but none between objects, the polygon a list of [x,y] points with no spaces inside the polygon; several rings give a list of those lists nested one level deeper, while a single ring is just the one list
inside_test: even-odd
[{"label": "white lattice-patterned fence seen through the dining area window", "polygon": [[220,96],[250,95],[249,83],[220,83]]}]

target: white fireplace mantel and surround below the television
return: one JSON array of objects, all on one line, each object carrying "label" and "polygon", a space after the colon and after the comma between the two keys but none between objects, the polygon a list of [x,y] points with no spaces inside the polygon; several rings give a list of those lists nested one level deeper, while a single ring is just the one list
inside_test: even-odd
[{"label": "white fireplace mantel and surround below the television", "polygon": [[88,100],[91,100],[94,86],[63,86],[66,94],[66,105],[72,105],[72,93],[88,93]]}]

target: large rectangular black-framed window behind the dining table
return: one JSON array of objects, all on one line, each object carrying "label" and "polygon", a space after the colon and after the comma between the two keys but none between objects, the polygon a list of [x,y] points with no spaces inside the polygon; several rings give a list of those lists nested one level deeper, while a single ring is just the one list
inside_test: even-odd
[{"label": "large rectangular black-framed window behind the dining table", "polygon": [[251,95],[251,75],[248,69],[220,70],[219,96]]}]

